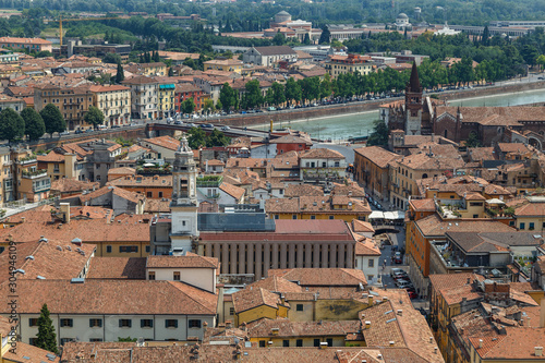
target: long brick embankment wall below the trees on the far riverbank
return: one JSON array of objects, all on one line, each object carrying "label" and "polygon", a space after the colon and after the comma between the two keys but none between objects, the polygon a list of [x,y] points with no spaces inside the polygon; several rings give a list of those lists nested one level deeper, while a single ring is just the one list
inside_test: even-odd
[{"label": "long brick embankment wall below the trees on the far riverbank", "polygon": [[[428,93],[426,95],[435,94],[441,100],[451,101],[456,99],[494,96],[500,94],[518,93],[518,92],[533,90],[541,88],[545,88],[545,81],[530,82],[530,83],[522,81],[520,83],[513,83],[508,85],[475,87],[472,89],[464,89],[464,90]],[[373,111],[373,110],[378,110],[378,107],[383,104],[391,102],[398,99],[402,99],[402,97],[379,99],[373,101],[348,102],[342,105],[327,105],[327,106],[317,106],[310,108],[298,108],[298,109],[253,113],[253,114],[233,114],[228,117],[221,117],[219,119],[210,119],[210,122],[214,122],[215,124],[227,124],[239,128],[244,128],[244,126],[252,128],[255,125],[268,124],[270,123],[271,120],[276,124],[284,121],[306,120],[306,119],[324,118],[324,117],[331,117],[339,114]]]}]

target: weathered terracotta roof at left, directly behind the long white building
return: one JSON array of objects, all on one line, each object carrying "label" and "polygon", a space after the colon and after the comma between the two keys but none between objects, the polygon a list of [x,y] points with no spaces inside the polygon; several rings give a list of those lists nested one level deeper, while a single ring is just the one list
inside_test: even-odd
[{"label": "weathered terracotta roof at left, directly behind the long white building", "polygon": [[[69,250],[70,249],[70,250]],[[83,251],[82,254],[77,251]],[[83,271],[89,258],[95,253],[96,245],[77,245],[71,242],[51,240],[49,242],[28,242],[17,244],[15,267],[24,274],[17,274],[17,281],[37,279],[41,276],[50,280],[83,277]],[[10,255],[0,254],[0,281],[9,278]]]}]

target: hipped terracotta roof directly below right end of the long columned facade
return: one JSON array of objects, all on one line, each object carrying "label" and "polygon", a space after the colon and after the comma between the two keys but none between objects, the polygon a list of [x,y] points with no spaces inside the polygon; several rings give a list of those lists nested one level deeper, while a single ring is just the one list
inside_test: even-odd
[{"label": "hipped terracotta roof directly below right end of the long columned facade", "polygon": [[269,269],[268,276],[283,277],[288,281],[298,281],[302,287],[359,287],[367,285],[360,269],[350,268],[290,268]]}]

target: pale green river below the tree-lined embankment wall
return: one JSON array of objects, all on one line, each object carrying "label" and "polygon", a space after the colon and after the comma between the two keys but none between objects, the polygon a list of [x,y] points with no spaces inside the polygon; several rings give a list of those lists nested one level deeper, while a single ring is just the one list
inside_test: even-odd
[{"label": "pale green river below the tree-lined embankment wall", "polygon": [[[524,90],[511,94],[464,98],[450,101],[450,106],[518,106],[545,102],[545,89]],[[373,132],[373,121],[378,119],[378,110],[351,114],[331,116],[305,120],[284,121],[275,128],[290,126],[320,140],[347,140],[351,136],[366,136]],[[268,130],[268,125],[256,126]]]}]

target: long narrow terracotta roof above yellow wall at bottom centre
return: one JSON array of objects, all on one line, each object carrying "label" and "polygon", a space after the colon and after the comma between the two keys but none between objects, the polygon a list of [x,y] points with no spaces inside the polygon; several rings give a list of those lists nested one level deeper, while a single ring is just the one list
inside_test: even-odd
[{"label": "long narrow terracotta roof above yellow wall at bottom centre", "polygon": [[361,329],[360,320],[337,322],[290,322],[283,319],[261,318],[249,323],[246,329],[250,338],[269,337],[271,329],[278,329],[278,337],[346,337],[348,334],[358,332]]}]

